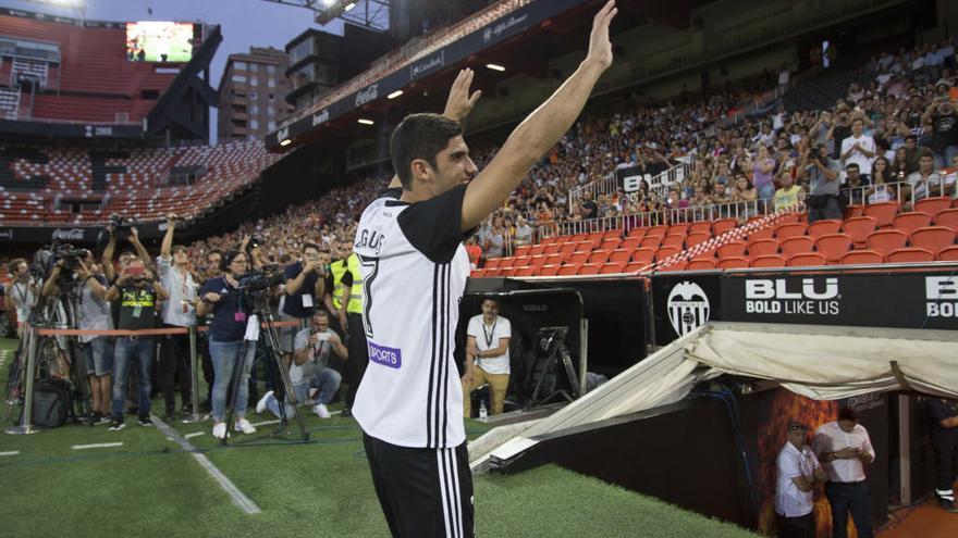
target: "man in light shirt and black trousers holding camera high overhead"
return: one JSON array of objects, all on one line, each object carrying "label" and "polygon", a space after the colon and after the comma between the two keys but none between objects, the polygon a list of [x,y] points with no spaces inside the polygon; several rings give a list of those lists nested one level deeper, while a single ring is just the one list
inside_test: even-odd
[{"label": "man in light shirt and black trousers holding camera high overhead", "polygon": [[[170,299],[163,301],[162,317],[164,327],[193,327],[196,325],[196,281],[189,272],[189,258],[186,247],[173,246],[176,215],[167,217],[167,234],[160,245],[157,271],[163,289]],[[163,336],[160,367],[157,375],[163,389],[167,418],[175,418],[176,398],[174,380],[180,377],[181,410],[188,413],[191,401],[189,335]]]}]

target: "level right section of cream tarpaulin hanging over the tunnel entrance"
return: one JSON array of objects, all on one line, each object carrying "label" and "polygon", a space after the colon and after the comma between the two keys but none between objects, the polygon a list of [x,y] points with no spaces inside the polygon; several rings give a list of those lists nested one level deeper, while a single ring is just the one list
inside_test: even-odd
[{"label": "level right section of cream tarpaulin hanging over the tunnel entrance", "polygon": [[955,330],[720,323],[686,349],[703,365],[816,400],[909,389],[958,398]]}]

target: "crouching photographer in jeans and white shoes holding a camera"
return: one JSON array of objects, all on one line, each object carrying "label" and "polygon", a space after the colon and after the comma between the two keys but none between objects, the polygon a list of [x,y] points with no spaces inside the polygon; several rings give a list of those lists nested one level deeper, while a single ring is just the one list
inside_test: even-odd
[{"label": "crouching photographer in jeans and white shoes holding a camera", "polygon": [[[307,398],[312,398],[312,412],[320,418],[329,418],[330,412],[326,404],[333,399],[342,380],[340,373],[329,367],[330,352],[334,352],[340,359],[347,359],[349,352],[340,336],[330,328],[327,311],[317,310],[312,313],[312,326],[296,333],[295,348],[293,364],[290,366],[290,381],[293,384],[296,401],[302,403]],[[280,402],[272,390],[256,404],[257,413],[262,413],[266,409],[282,417]],[[288,400],[284,411],[287,418],[293,416],[293,406]]]}]

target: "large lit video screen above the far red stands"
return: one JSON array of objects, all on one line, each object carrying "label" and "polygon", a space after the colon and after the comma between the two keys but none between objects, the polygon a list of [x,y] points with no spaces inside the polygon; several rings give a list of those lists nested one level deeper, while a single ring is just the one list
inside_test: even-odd
[{"label": "large lit video screen above the far red stands", "polygon": [[188,62],[193,37],[192,23],[127,23],[126,58],[134,62]]}]

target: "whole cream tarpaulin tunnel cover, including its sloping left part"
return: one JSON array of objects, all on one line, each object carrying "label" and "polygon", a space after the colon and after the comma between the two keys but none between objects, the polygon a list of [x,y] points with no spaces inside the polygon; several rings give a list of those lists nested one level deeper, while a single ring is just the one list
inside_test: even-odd
[{"label": "whole cream tarpaulin tunnel cover, including its sloping left part", "polygon": [[489,455],[505,460],[536,436],[678,401],[721,374],[776,380],[816,400],[888,390],[958,398],[958,330],[711,322]]}]

